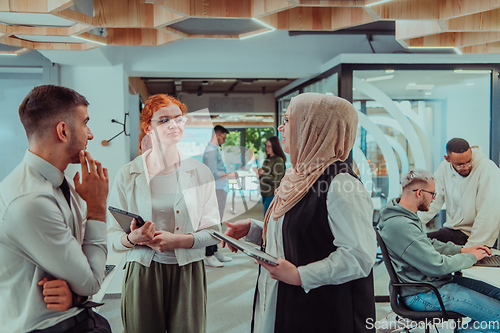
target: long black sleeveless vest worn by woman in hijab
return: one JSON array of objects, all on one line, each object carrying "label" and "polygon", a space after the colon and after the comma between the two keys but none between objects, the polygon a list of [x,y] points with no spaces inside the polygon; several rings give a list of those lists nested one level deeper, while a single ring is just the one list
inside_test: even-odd
[{"label": "long black sleeveless vest worn by woman in hijab", "polygon": [[[325,259],[337,249],[328,224],[326,197],[335,176],[346,172],[358,178],[346,163],[331,164],[306,196],[285,214],[285,259],[294,265]],[[341,285],[321,286],[307,294],[301,286],[278,284],[275,332],[374,332],[366,327],[368,318],[375,318],[372,273]]]}]

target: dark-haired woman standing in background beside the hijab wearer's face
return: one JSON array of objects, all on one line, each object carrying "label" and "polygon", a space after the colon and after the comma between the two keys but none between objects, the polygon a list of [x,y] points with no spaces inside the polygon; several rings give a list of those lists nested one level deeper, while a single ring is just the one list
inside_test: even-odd
[{"label": "dark-haired woman standing in background beside the hijab wearer's face", "polygon": [[286,157],[277,136],[272,136],[266,141],[267,157],[262,168],[257,169],[259,176],[260,194],[264,205],[264,216],[273,201],[274,190],[280,185],[281,178],[285,175]]}]

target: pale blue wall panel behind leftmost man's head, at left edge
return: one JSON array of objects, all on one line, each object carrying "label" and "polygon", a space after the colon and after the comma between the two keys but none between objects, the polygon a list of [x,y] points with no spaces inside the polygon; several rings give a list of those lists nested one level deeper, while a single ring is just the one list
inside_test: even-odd
[{"label": "pale blue wall panel behind leftmost man's head, at left edge", "polygon": [[43,83],[42,73],[0,73],[0,181],[22,161],[28,149],[19,120],[19,105],[33,87]]}]

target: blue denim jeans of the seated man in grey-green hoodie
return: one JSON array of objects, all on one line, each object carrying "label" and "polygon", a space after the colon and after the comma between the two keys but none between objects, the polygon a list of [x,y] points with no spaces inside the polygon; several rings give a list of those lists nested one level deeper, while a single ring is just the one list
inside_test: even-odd
[{"label": "blue denim jeans of the seated man in grey-green hoodie", "polygon": [[[500,332],[500,289],[481,281],[454,276],[452,282],[438,290],[446,310],[472,319],[461,332]],[[441,310],[432,291],[407,296],[403,301],[415,311]]]}]

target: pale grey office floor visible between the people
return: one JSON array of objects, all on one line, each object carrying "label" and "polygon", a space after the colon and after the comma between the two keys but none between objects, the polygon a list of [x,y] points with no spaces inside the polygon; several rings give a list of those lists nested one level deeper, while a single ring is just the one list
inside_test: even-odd
[{"label": "pale grey office floor visible between the people", "polygon": [[[230,193],[224,212],[224,220],[233,222],[245,218],[262,219],[263,217],[262,204],[257,201],[255,194],[251,198],[248,195],[244,198],[239,195],[235,196],[235,214],[231,210],[232,197]],[[225,226],[223,226],[224,228]],[[224,267],[222,268],[206,268],[208,280],[207,333],[248,333],[250,332],[258,264],[254,259],[245,254],[233,254],[228,249],[221,249],[220,247],[219,251],[231,256],[233,260],[224,263]],[[115,269],[118,269],[118,271],[115,273],[111,285],[107,289],[107,293],[103,299],[105,305],[99,309],[99,313],[108,319],[113,332],[122,332],[120,293],[123,270],[121,267]],[[389,277],[383,264],[377,264],[374,267],[374,283],[376,295],[388,294]],[[390,326],[390,322],[384,320],[390,312],[390,305],[388,303],[378,303],[376,311],[376,317],[379,322],[377,322],[375,327],[394,327]],[[386,331],[380,330],[380,332]],[[420,333],[424,332],[424,330],[416,328],[412,329],[411,332]],[[451,333],[453,330],[439,329],[439,332]]]}]

